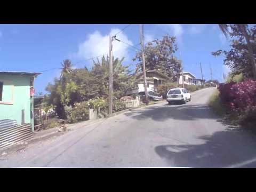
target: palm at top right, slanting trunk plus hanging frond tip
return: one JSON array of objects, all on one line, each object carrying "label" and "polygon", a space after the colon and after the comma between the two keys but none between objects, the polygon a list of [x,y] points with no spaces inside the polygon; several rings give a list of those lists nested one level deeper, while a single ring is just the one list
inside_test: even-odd
[{"label": "palm at top right, slanting trunk plus hanging frond tip", "polygon": [[[254,78],[256,78],[256,62],[253,56],[252,44],[250,42],[250,35],[247,33],[247,24],[236,24],[236,25],[246,40],[248,57],[253,69],[253,76]],[[227,35],[229,34],[228,24],[219,24],[219,27],[222,33],[227,37]]]}]

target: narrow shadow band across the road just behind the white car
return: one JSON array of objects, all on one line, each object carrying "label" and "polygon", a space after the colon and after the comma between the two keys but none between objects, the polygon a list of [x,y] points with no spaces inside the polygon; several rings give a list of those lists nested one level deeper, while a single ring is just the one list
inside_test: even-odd
[{"label": "narrow shadow band across the road just behind the white car", "polygon": [[154,121],[165,121],[167,119],[182,119],[191,121],[195,119],[218,119],[209,106],[207,105],[164,105],[151,106],[142,109],[136,109],[130,113],[125,113],[126,116],[142,120],[151,118]]}]

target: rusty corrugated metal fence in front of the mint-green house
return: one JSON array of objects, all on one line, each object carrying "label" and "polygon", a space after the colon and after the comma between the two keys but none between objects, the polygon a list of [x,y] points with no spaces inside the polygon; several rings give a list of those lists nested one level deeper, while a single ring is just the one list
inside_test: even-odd
[{"label": "rusty corrugated metal fence in front of the mint-green house", "polygon": [[0,149],[25,141],[31,136],[31,124],[17,126],[17,121],[13,119],[0,120]]}]

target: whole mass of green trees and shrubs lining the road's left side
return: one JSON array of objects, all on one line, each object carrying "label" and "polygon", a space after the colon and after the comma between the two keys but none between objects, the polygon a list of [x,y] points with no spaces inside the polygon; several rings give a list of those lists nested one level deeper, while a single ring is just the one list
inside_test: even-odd
[{"label": "whole mass of green trees and shrubs lining the road's left side", "polygon": [[[158,70],[177,82],[181,71],[181,60],[174,53],[178,50],[175,37],[166,35],[163,39],[155,39],[145,45],[146,70]],[[136,75],[142,69],[141,52],[137,52],[133,61],[135,71],[130,65],[124,65],[124,58],[113,58],[113,113],[125,109],[122,97],[129,90],[138,89]],[[49,128],[58,124],[58,119],[75,123],[89,119],[89,109],[108,107],[109,58],[93,60],[91,69],[74,69],[71,60],[61,63],[61,75],[46,87],[41,109],[44,116],[37,116],[35,122]],[[172,84],[172,83],[170,83]],[[161,93],[167,92],[172,85],[166,85]],[[50,115],[49,111],[54,111]],[[49,119],[50,118],[50,119]],[[55,120],[51,120],[55,119]]]}]

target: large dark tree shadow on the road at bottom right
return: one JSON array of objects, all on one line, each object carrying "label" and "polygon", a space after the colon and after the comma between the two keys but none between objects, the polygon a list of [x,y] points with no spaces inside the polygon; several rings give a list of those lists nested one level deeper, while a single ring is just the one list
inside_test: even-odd
[{"label": "large dark tree shadow on the road at bottom right", "polygon": [[242,129],[203,136],[199,145],[161,145],[155,152],[170,166],[256,167],[256,137]]}]

